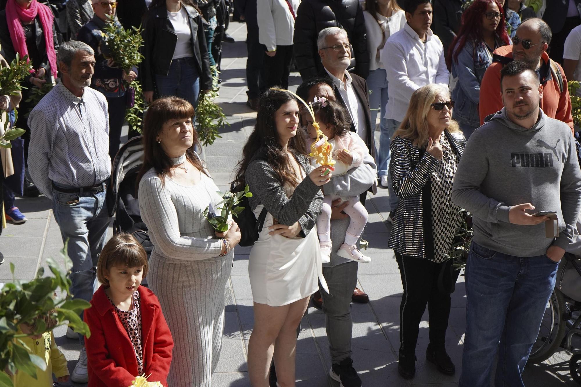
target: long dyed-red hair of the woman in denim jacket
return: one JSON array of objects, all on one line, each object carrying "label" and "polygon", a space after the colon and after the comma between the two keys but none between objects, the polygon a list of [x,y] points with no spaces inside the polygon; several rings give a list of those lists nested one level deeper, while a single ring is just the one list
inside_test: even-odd
[{"label": "long dyed-red hair of the woman in denim jacket", "polygon": [[474,41],[474,55],[476,53],[476,46],[483,42],[482,39],[482,16],[486,12],[486,7],[489,3],[496,3],[498,7],[498,12],[500,13],[500,22],[496,27],[494,32],[494,39],[500,40],[504,45],[510,44],[508,40],[508,35],[505,27],[504,21],[504,10],[503,6],[500,5],[498,0],[476,0],[473,2],[467,10],[464,11],[462,15],[462,26],[460,31],[454,38],[454,41],[448,49],[448,55],[446,56],[446,64],[448,67],[451,66],[452,60],[458,63],[458,55],[462,51],[462,48],[467,44],[468,41]]}]

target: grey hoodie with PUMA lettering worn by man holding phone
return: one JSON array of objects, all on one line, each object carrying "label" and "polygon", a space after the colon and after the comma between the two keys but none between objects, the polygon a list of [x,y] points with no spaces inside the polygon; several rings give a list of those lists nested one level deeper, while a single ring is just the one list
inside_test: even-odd
[{"label": "grey hoodie with PUMA lettering worn by man holding phone", "polygon": [[[550,245],[566,249],[581,211],[571,128],[539,111],[528,130],[510,121],[504,108],[486,117],[470,136],[452,188],[453,202],[472,213],[474,241],[518,257],[543,255]],[[546,238],[544,223],[509,223],[511,206],[522,203],[532,203],[532,212],[557,211],[560,236]]]}]

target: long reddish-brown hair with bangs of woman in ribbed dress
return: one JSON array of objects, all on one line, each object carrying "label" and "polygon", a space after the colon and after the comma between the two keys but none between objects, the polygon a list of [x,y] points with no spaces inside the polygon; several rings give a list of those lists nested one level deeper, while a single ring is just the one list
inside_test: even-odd
[{"label": "long reddish-brown hair with bangs of woman in ribbed dress", "polygon": [[[170,120],[191,119],[193,117],[193,106],[185,99],[176,96],[165,96],[153,101],[149,105],[145,115],[144,124],[144,163],[141,166],[137,177],[137,184],[141,181],[143,175],[152,167],[157,175],[162,179],[162,184],[166,176],[170,173],[174,163],[170,156],[162,149],[162,146],[155,141],[159,132],[163,129],[163,124]],[[206,174],[206,170],[200,159],[195,155],[193,149],[199,145],[198,132],[195,128],[193,133],[193,144],[185,151],[185,156],[190,163]]]}]

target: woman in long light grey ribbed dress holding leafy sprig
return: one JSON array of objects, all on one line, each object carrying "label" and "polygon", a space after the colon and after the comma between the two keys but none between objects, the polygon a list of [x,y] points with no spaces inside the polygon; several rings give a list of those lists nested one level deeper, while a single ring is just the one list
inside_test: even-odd
[{"label": "woman in long light grey ribbed dress holding leafy sprig", "polygon": [[[148,284],[174,337],[171,387],[209,387],[224,326],[224,288],[240,241],[238,225],[216,234],[203,215],[222,199],[197,155],[193,107],[157,99],[144,127],[139,210],[155,247]],[[223,237],[218,239],[217,236]]]}]

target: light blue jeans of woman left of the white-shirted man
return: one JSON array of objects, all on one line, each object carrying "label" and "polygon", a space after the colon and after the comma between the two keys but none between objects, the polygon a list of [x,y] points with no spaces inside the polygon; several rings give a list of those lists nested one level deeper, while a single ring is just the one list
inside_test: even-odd
[{"label": "light blue jeans of woman left of the white-shirted man", "polygon": [[[389,166],[389,144],[392,142],[392,134],[388,131],[388,119],[385,118],[385,106],[388,104],[388,79],[384,69],[372,70],[367,77],[367,87],[371,93],[369,95],[369,106],[371,108],[372,133],[375,131],[375,120],[377,113],[379,116],[379,149],[375,152],[375,163],[377,164],[377,175],[382,177],[388,174]],[[379,109],[378,109],[379,106]]]}]

